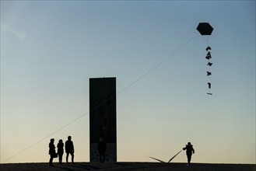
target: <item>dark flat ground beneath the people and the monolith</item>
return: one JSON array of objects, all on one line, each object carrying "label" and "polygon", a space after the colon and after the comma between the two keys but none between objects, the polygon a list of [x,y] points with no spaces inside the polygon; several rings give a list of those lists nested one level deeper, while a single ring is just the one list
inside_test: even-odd
[{"label": "dark flat ground beneath the people and the monolith", "polygon": [[1,171],[43,171],[43,170],[157,170],[157,171],[256,171],[255,164],[211,164],[211,163],[192,163],[187,166],[186,163],[163,163],[163,162],[76,162],[74,164],[58,164],[54,163],[54,167],[50,167],[48,163],[10,163],[0,164]]}]

